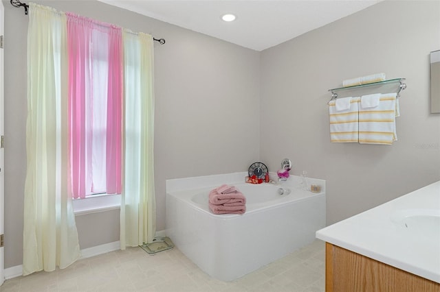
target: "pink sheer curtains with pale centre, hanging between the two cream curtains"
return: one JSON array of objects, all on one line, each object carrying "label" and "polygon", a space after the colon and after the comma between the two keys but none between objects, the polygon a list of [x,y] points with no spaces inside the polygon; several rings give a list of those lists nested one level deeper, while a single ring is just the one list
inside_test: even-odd
[{"label": "pink sheer curtains with pale centre, hanging between the two cream curtains", "polygon": [[76,14],[66,16],[72,195],[121,193],[122,32]]}]

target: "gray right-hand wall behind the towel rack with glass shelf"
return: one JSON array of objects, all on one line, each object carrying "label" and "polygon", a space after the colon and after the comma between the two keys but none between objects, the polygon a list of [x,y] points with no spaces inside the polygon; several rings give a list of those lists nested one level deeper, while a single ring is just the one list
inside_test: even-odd
[{"label": "gray right-hand wall behind the towel rack with glass shelf", "polygon": [[[429,53],[437,49],[439,1],[384,1],[263,51],[261,159],[277,169],[288,157],[294,174],[327,180],[327,224],[439,180],[440,115],[429,114]],[[398,141],[330,143],[327,90],[380,72],[408,84]]]}]

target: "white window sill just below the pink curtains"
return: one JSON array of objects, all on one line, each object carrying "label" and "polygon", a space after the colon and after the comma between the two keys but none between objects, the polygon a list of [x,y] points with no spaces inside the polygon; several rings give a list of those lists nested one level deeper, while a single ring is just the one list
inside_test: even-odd
[{"label": "white window sill just below the pink curtains", "polygon": [[76,216],[120,209],[121,195],[94,195],[85,199],[73,199]]}]

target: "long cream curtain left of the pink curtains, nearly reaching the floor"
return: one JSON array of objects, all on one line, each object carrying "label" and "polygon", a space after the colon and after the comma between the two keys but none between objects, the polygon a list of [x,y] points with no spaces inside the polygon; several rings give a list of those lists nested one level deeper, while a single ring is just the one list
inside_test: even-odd
[{"label": "long cream curtain left of the pink curtains, nearly reaching the floor", "polygon": [[30,3],[23,275],[80,256],[69,184],[65,15]]}]

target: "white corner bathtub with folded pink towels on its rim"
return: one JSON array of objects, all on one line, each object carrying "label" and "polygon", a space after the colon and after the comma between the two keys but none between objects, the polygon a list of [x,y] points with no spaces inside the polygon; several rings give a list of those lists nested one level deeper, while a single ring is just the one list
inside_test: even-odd
[{"label": "white corner bathtub with folded pink towels on its rim", "polygon": [[[321,193],[303,191],[291,176],[281,185],[245,184],[246,173],[167,180],[166,235],[208,275],[223,281],[244,276],[314,241],[325,227],[325,181]],[[223,183],[246,197],[243,215],[214,215],[208,193]],[[289,195],[278,195],[289,188]]]}]

